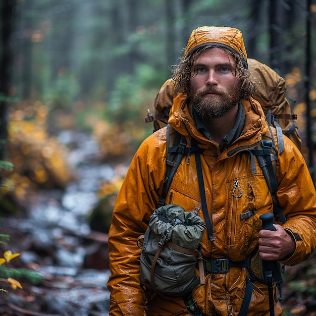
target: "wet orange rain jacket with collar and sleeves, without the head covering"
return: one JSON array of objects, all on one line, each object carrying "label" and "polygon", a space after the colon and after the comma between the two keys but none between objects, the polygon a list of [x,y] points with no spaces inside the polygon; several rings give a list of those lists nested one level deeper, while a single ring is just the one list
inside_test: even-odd
[{"label": "wet orange rain jacket with collar and sleeves, without the head covering", "polygon": [[[258,246],[259,216],[273,212],[272,196],[261,169],[251,172],[250,156],[238,154],[242,146],[261,140],[268,130],[260,104],[242,100],[245,123],[240,136],[222,152],[217,143],[203,137],[196,129],[187,97],[181,93],[174,99],[169,118],[170,125],[180,134],[189,136],[203,148],[201,165],[207,208],[213,224],[215,241],[207,233],[202,238],[202,255],[205,258],[229,258],[242,261]],[[275,130],[274,130],[275,133]],[[276,137],[275,137],[276,138]],[[296,242],[294,253],[282,262],[295,265],[306,260],[316,246],[316,197],[304,159],[284,136],[285,151],[278,155],[276,192],[287,222],[283,228]],[[200,193],[195,157],[185,155],[169,189],[166,203],[181,205],[190,212],[200,208]],[[166,173],[166,127],[150,135],[137,150],[117,198],[112,226],[109,232],[111,276],[110,315],[189,315],[181,297],[157,296],[146,293],[139,282],[141,249],[136,240],[144,234],[148,220],[162,193]],[[236,195],[234,188],[238,183]],[[235,196],[235,197],[234,197]],[[241,220],[240,215],[254,210],[254,215]],[[203,217],[202,210],[199,216]],[[256,256],[256,258],[258,258]],[[258,259],[252,260],[253,272],[258,273]],[[198,273],[198,271],[197,271]],[[202,312],[206,315],[238,315],[247,281],[245,268],[230,268],[227,273],[208,274],[205,285],[193,291]],[[280,303],[275,315],[282,313]],[[267,285],[254,283],[247,315],[269,315]]]}]

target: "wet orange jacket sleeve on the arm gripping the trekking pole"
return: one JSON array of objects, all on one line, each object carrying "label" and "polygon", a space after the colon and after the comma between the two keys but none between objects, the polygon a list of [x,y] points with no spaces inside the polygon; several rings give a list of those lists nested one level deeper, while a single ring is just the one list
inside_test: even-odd
[{"label": "wet orange jacket sleeve on the arm gripping the trekking pole", "polygon": [[316,193],[303,156],[284,136],[285,151],[278,157],[277,199],[287,222],[283,228],[296,243],[294,253],[283,261],[296,265],[306,260],[316,247]]}]

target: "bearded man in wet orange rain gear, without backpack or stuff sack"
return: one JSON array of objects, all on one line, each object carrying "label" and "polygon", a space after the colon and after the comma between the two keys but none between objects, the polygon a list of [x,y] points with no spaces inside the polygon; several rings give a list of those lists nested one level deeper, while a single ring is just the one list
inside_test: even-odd
[{"label": "bearded man in wet orange rain gear, without backpack or stuff sack", "polygon": [[[199,156],[204,208],[212,229],[207,227],[202,237],[201,254],[204,262],[221,259],[231,265],[227,271],[208,273],[205,269],[205,284],[193,290],[194,300],[205,315],[238,315],[248,275],[246,267],[235,264],[255,253],[247,315],[268,315],[268,287],[260,280],[260,258],[295,265],[306,260],[316,246],[316,196],[304,159],[284,137],[285,150],[277,157],[276,199],[287,221],[282,226],[274,224],[276,231],[260,230],[259,216],[273,212],[272,195],[258,163],[253,173],[250,155],[239,151],[254,147],[269,129],[260,104],[251,98],[255,83],[247,70],[241,32],[226,27],[194,30],[173,80],[182,93],[174,99],[169,124],[184,135],[188,147],[194,140],[203,149]],[[162,128],[142,143],[117,198],[109,232],[110,315],[190,314],[182,297],[157,295],[139,281],[141,250],[136,241],[146,231],[162,194],[166,133]],[[194,155],[184,156],[166,203],[180,205],[187,212],[199,209],[198,215],[205,220],[194,162]],[[241,216],[245,214],[250,215]],[[280,303],[274,300],[274,304],[275,315],[282,314]]]}]

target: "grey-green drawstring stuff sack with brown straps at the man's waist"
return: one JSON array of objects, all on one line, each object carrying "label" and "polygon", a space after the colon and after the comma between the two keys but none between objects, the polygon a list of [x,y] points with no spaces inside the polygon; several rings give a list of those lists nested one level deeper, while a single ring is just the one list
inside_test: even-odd
[{"label": "grey-green drawstring stuff sack with brown straps at the man's waist", "polygon": [[[195,267],[202,257],[197,250],[205,231],[197,212],[168,204],[149,219],[140,256],[140,283],[159,294],[185,296],[199,283]],[[200,269],[201,274],[201,269]],[[203,275],[204,277],[204,275]]]}]

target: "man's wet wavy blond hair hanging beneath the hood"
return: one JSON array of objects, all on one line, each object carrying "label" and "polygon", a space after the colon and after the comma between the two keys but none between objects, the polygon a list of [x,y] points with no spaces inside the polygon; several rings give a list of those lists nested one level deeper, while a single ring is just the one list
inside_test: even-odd
[{"label": "man's wet wavy blond hair hanging beneath the hood", "polygon": [[[201,55],[203,51],[209,48],[214,48],[219,46],[209,45],[204,46],[192,54],[188,54],[185,58],[182,59],[179,65],[173,66],[173,76],[172,79],[180,92],[188,92],[190,90],[190,79],[192,77],[191,69],[193,66],[194,61]],[[250,71],[246,69],[241,61],[241,58],[235,54],[233,54],[228,49],[223,47],[219,47],[226,51],[227,54],[233,56],[236,61],[236,76],[241,81],[240,83],[240,98],[246,99],[251,96],[255,89],[257,82],[251,75]],[[193,74],[194,75],[194,74]]]}]

